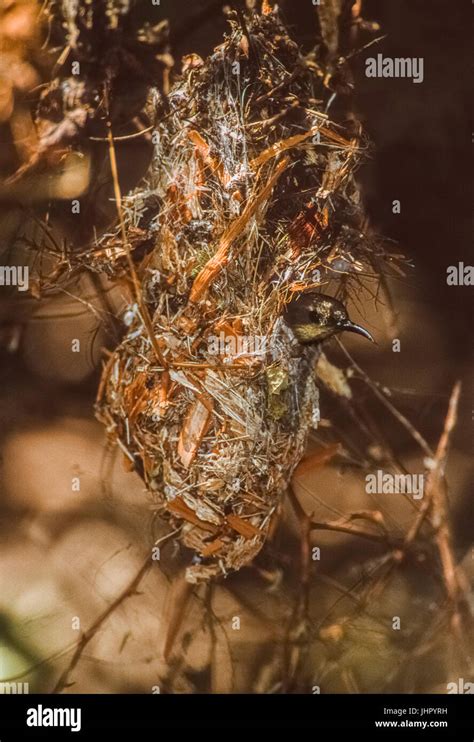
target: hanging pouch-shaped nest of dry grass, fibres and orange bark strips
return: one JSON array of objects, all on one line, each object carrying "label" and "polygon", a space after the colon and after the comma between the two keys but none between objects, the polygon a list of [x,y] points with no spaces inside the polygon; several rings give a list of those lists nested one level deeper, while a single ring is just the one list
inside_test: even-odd
[{"label": "hanging pouch-shaped nest of dry grass, fibres and orange bark strips", "polygon": [[150,100],[154,159],[123,225],[146,257],[97,410],[194,552],[189,582],[258,553],[317,424],[320,351],[297,343],[286,303],[370,270],[361,143],[331,121],[326,80],[275,12],[231,14],[212,56]]}]

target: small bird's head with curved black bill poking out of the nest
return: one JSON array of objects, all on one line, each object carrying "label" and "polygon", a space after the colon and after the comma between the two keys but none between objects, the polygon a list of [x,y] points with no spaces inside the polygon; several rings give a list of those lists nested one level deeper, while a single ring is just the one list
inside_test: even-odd
[{"label": "small bird's head with curved black bill poking out of the nest", "polygon": [[290,301],[283,319],[301,345],[322,343],[340,332],[355,332],[375,342],[368,330],[349,319],[341,301],[315,291],[299,294]]}]

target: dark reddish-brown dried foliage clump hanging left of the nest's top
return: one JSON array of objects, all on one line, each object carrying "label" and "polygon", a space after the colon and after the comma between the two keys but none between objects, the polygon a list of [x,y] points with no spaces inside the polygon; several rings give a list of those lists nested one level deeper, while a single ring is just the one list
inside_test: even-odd
[{"label": "dark reddish-brown dried foliage clump hanging left of the nest's top", "polygon": [[37,110],[37,157],[84,136],[104,136],[104,123],[133,121],[151,82],[162,86],[172,65],[166,21],[141,23],[128,0],[52,0],[44,15],[58,58]]}]

